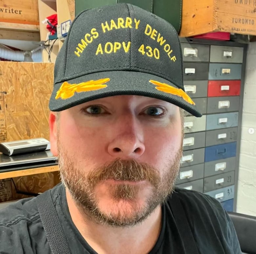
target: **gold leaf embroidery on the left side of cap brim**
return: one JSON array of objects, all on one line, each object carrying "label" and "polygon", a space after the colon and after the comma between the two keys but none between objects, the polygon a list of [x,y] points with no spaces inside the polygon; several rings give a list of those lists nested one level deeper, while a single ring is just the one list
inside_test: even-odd
[{"label": "gold leaf embroidery on the left side of cap brim", "polygon": [[75,92],[80,93],[103,89],[107,87],[105,83],[109,81],[110,78],[90,80],[79,84],[69,84],[67,81],[65,81],[57,91],[55,99],[69,99],[75,95]]}]

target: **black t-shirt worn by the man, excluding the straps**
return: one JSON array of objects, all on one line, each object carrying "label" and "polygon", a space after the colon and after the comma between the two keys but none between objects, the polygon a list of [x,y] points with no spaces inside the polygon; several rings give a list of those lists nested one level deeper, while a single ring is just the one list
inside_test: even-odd
[{"label": "black t-shirt worn by the man, excluding the straps", "polygon": [[[241,254],[234,226],[218,201],[196,191],[176,189],[200,254]],[[65,188],[51,190],[53,202],[72,253],[96,254],[75,227],[67,205]],[[49,220],[51,216],[49,215]],[[50,246],[38,213],[36,198],[22,199],[0,210],[1,254],[47,254]],[[162,228],[150,251],[189,254],[168,202],[162,205]]]}]

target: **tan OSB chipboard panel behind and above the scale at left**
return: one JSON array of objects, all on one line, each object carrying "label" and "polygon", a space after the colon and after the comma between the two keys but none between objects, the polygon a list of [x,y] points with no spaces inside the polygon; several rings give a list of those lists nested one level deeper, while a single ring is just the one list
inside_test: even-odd
[{"label": "tan OSB chipboard panel behind and above the scale at left", "polygon": [[49,139],[52,63],[0,62],[0,142]]}]

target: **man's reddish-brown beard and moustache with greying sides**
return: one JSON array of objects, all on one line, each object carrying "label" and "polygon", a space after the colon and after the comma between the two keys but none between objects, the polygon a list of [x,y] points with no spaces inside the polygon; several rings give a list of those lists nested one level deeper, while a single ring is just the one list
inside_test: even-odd
[{"label": "man's reddish-brown beard and moustache with greying sides", "polygon": [[[76,166],[76,160],[62,147],[58,135],[57,144],[61,181],[69,190],[78,209],[95,223],[121,227],[136,225],[145,220],[174,190],[182,146],[169,165],[166,165],[168,170],[161,175],[159,169],[149,164],[122,159],[116,159],[85,173],[83,168]],[[107,192],[112,200],[107,211],[100,206],[100,196],[96,191],[97,186],[105,180],[115,180],[115,184],[107,185]],[[118,181],[122,182],[118,184]],[[150,184],[150,187],[147,186],[149,191],[142,205],[138,202],[138,196],[145,186],[131,184],[139,181]]]}]

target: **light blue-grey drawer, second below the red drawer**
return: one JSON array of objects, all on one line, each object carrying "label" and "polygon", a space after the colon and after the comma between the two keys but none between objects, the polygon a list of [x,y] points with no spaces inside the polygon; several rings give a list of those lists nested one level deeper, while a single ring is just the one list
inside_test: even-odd
[{"label": "light blue-grey drawer, second below the red drawer", "polygon": [[238,125],[238,115],[238,112],[207,115],[206,130],[236,127]]}]

